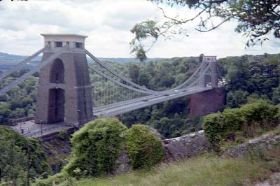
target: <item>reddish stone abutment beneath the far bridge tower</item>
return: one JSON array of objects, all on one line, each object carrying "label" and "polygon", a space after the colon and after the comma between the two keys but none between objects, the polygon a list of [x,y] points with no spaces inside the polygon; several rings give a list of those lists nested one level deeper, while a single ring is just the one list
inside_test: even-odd
[{"label": "reddish stone abutment beneath the far bridge tower", "polygon": [[212,90],[199,92],[190,96],[190,120],[195,117],[216,113],[225,104],[225,88],[216,87]]}]

